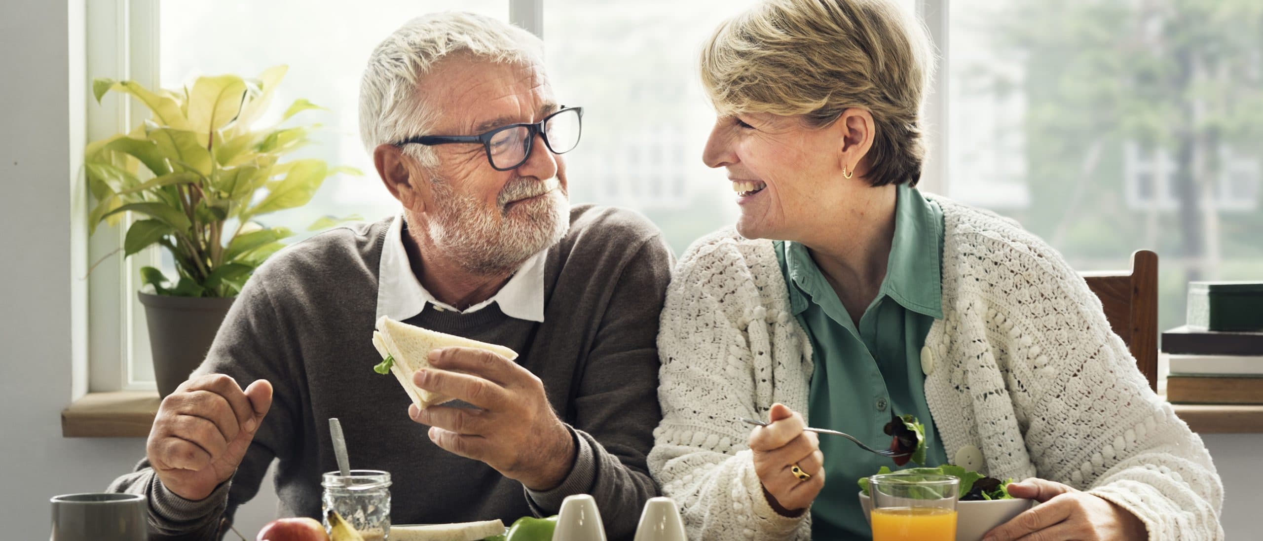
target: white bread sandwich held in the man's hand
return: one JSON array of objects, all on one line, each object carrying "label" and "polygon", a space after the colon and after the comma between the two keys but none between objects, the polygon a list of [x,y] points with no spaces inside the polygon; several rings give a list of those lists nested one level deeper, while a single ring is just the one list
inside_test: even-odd
[{"label": "white bread sandwich held in the man's hand", "polygon": [[504,356],[509,361],[518,358],[517,352],[504,346],[423,329],[395,322],[385,315],[378,319],[376,328],[373,333],[373,346],[378,348],[381,358],[394,357],[395,362],[390,364],[390,373],[395,376],[395,380],[408,392],[408,396],[412,397],[412,402],[417,407],[433,406],[453,400],[448,396],[418,388],[412,383],[413,373],[422,368],[429,368],[428,356],[431,349],[443,347],[479,348]]}]

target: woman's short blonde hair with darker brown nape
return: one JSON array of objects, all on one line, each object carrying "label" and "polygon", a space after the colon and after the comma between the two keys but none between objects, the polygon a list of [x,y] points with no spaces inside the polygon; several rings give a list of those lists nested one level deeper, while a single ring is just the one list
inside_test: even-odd
[{"label": "woman's short blonde hair with darker brown nape", "polygon": [[894,0],[767,0],[715,30],[701,78],[720,113],[803,115],[822,127],[866,110],[877,125],[869,182],[916,185],[932,61],[925,25]]}]

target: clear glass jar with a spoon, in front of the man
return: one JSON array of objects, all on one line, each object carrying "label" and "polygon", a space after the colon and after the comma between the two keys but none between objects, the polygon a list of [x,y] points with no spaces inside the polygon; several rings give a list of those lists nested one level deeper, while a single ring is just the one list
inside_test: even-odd
[{"label": "clear glass jar with a spoon, in front of the man", "polygon": [[350,475],[328,472],[321,479],[321,520],[328,530],[328,512],[337,511],[360,532],[364,541],[390,536],[390,473],[378,469],[352,469]]}]

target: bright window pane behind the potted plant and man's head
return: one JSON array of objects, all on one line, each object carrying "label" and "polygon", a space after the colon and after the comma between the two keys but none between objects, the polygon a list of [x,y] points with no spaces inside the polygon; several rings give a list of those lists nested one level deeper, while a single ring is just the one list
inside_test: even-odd
[{"label": "bright window pane behind the potted plant and man's head", "polygon": [[[369,53],[394,29],[429,11],[460,9],[508,19],[508,0],[361,0],[354,9],[335,0],[217,0],[162,3],[159,30],[160,81],[178,88],[196,74],[234,73],[254,77],[263,69],[288,64],[269,116],[277,121],[297,98],[327,111],[307,111],[296,120],[323,127],[313,144],[287,159],[320,158],[331,166],[350,165],[364,177],[336,175],[325,180],[304,207],[259,217],[265,226],[285,226],[301,235],[322,216],[359,214],[378,219],[398,211],[378,179],[373,159],[360,145],[360,74]],[[293,122],[293,121],[292,121]],[[171,271],[169,260],[168,276]],[[144,318],[136,318],[144,325]],[[131,359],[134,381],[152,380],[147,354]]]}]

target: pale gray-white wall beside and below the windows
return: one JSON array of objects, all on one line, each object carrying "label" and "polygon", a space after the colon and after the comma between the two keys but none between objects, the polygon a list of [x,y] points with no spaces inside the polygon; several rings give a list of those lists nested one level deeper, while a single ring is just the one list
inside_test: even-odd
[{"label": "pale gray-white wall beside and below the windows", "polygon": [[[101,491],[144,454],[144,439],[64,439],[61,411],[71,398],[68,322],[83,309],[72,295],[82,255],[72,250],[69,217],[72,66],[82,69],[82,1],[0,4],[0,523],[5,538],[48,536],[48,498]],[[72,24],[73,23],[73,24]],[[71,28],[75,28],[72,30]],[[76,74],[83,83],[82,74]],[[1229,538],[1257,537],[1263,498],[1263,435],[1207,435],[1224,474]],[[242,509],[240,531],[273,516],[266,480]]]}]

